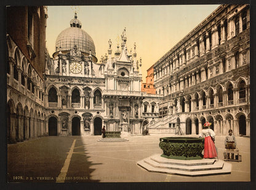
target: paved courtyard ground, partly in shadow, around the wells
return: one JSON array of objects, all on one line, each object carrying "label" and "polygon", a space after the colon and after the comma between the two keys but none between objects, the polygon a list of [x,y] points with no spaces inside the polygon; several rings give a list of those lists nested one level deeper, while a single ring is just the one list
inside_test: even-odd
[{"label": "paved courtyard ground, partly in shadow, around the wells", "polygon": [[[9,182],[184,182],[250,181],[250,139],[236,137],[242,162],[231,174],[183,177],[148,172],[137,161],[161,154],[159,137],[167,134],[126,137],[126,142],[98,142],[100,136],[42,137],[8,145]],[[225,137],[216,137],[218,158],[223,159]]]}]

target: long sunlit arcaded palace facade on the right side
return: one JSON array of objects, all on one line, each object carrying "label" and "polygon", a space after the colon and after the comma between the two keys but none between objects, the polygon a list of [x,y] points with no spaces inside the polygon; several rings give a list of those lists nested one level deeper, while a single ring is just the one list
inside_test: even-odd
[{"label": "long sunlit arcaded palace facade on the right side", "polygon": [[154,64],[163,96],[149,132],[250,135],[249,5],[222,5]]}]

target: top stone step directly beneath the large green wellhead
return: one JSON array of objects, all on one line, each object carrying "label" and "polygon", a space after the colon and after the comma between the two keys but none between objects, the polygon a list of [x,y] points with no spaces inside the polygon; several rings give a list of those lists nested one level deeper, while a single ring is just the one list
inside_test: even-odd
[{"label": "top stone step directly beneath the large green wellhead", "polygon": [[170,159],[164,158],[161,154],[154,154],[150,156],[150,159],[156,161],[160,164],[175,164],[175,165],[212,165],[215,162],[215,159],[194,159],[194,160],[179,160],[179,159]]}]

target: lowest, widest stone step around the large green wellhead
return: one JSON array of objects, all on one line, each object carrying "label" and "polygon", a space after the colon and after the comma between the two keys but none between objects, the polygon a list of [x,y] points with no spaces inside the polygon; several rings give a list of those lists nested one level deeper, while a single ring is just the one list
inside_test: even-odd
[{"label": "lowest, widest stone step around the large green wellhead", "polygon": [[[218,161],[223,162],[223,161]],[[175,175],[184,175],[188,177],[197,177],[197,176],[206,176],[206,175],[223,175],[223,174],[230,174],[231,173],[231,164],[223,162],[222,169],[216,170],[199,170],[199,171],[184,171],[178,169],[162,169],[158,167],[153,167],[150,164],[147,164],[142,161],[137,162],[138,165],[143,167],[144,169],[148,170],[149,172],[158,172],[158,173],[167,173],[167,174],[175,174]]]}]

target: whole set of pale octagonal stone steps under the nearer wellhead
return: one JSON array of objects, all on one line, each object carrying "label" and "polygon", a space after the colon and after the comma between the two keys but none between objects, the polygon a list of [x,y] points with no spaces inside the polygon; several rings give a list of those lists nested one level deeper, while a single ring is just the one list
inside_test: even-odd
[{"label": "whole set of pale octagonal stone steps under the nearer wellhead", "polygon": [[231,173],[231,164],[216,159],[178,160],[155,154],[137,162],[149,172],[184,175],[190,177]]}]

